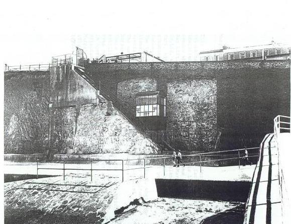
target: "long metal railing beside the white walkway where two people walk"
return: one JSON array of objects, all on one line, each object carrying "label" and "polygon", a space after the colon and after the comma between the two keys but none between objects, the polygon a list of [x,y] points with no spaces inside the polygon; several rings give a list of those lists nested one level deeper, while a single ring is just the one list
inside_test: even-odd
[{"label": "long metal railing beside the white walkway where two people walk", "polygon": [[[247,148],[247,150],[258,150],[259,147],[254,147],[254,148]],[[183,163],[184,165],[187,166],[195,166],[195,164],[199,164],[200,166],[200,172],[202,172],[202,166],[205,166],[206,163],[209,162],[217,162],[217,161],[227,161],[227,160],[237,160],[237,165],[241,166],[241,159],[244,158],[244,156],[242,156],[242,153],[240,153],[240,151],[244,151],[246,149],[235,149],[235,150],[225,150],[225,151],[218,151],[218,152],[209,152],[209,153],[199,153],[199,154],[189,154],[189,155],[183,155]],[[230,154],[230,152],[237,152],[237,154]],[[237,155],[237,156],[235,156]],[[207,156],[233,156],[230,158],[223,158],[223,159],[207,159]],[[203,158],[203,157],[206,157]],[[258,153],[257,155],[253,155],[253,156],[248,156],[248,158],[251,157],[258,157]],[[197,159],[195,159],[197,158]],[[168,162],[166,162],[166,160],[168,160]],[[61,162],[62,163],[62,167],[61,168],[50,168],[50,167],[39,167],[40,162],[45,161],[46,163],[54,163],[54,162]],[[126,163],[129,163],[130,161],[137,161],[135,164],[131,164],[131,165],[127,165]],[[68,168],[65,165],[68,164],[68,162],[89,162],[90,168]],[[93,162],[118,162],[118,168],[93,168]],[[148,164],[147,164],[148,162]],[[74,165],[76,165],[77,163],[73,163]],[[88,164],[86,164],[88,165]],[[111,164],[109,164],[110,166]],[[128,168],[127,166],[134,166],[133,168]],[[138,166],[139,165],[139,166]],[[108,159],[108,160],[37,160],[37,178],[39,175],[39,170],[62,170],[62,176],[63,176],[63,180],[65,180],[65,171],[66,170],[85,170],[85,171],[90,171],[90,179],[92,181],[93,179],[93,171],[121,171],[121,178],[122,178],[122,182],[124,181],[125,175],[124,175],[124,171],[128,171],[128,170],[137,170],[137,169],[143,169],[143,178],[146,178],[146,169],[148,168],[153,168],[153,167],[158,167],[158,166],[162,166],[163,167],[163,175],[165,176],[165,167],[172,165],[172,156],[171,155],[167,155],[167,156],[162,156],[162,157],[152,157],[152,158],[137,158],[137,159]]]}]

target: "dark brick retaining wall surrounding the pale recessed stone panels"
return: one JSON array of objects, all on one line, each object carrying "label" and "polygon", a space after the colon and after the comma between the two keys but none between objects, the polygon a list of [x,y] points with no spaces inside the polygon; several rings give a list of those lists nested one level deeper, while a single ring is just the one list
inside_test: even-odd
[{"label": "dark brick retaining wall surrounding the pale recessed stone panels", "polygon": [[156,90],[165,92],[167,83],[176,80],[216,79],[217,128],[224,128],[223,149],[257,146],[272,132],[273,118],[290,110],[289,60],[104,63],[89,64],[87,69],[116,95],[118,83],[131,85],[145,77],[155,79]]}]

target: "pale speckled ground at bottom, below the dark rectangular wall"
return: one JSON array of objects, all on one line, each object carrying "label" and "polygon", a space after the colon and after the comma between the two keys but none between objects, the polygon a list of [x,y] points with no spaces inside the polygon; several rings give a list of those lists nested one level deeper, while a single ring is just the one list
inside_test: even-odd
[{"label": "pale speckled ground at bottom, below the dark rectangular wall", "polygon": [[[157,200],[142,204],[140,206],[129,207],[127,211],[124,211],[120,216],[112,220],[110,224],[199,224],[207,217],[217,215],[218,213],[232,209],[239,205],[242,205],[242,203],[158,198]],[[235,219],[230,219],[230,217],[227,217],[227,221],[219,223],[242,223],[243,209],[241,210],[242,211],[236,213]]]}]

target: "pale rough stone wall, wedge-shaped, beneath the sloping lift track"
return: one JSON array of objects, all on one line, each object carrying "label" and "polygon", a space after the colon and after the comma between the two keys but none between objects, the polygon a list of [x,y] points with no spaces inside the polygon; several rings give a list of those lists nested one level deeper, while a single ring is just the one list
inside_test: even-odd
[{"label": "pale rough stone wall, wedge-shaped, beneath the sloping lift track", "polygon": [[[108,113],[110,107],[111,113]],[[111,103],[55,109],[54,147],[67,154],[157,153]]]}]

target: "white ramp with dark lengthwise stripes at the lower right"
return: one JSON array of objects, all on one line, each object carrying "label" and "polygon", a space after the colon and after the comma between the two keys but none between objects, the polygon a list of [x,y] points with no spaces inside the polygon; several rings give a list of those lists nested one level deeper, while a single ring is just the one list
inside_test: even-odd
[{"label": "white ramp with dark lengthwise stripes at the lower right", "polygon": [[278,148],[274,134],[264,137],[259,153],[244,224],[282,223]]}]

